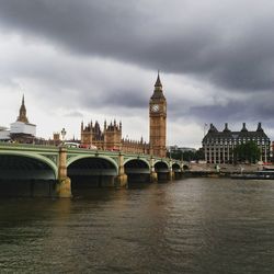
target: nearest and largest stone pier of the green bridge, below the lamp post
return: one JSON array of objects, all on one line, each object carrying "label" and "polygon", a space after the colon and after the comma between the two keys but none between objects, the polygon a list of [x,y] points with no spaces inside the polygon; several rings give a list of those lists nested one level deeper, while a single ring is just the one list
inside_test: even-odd
[{"label": "nearest and largest stone pier of the green bridge, below the lamp post", "polygon": [[58,181],[55,187],[55,194],[58,197],[71,197],[71,181],[67,176],[67,148],[59,148],[58,157]]}]

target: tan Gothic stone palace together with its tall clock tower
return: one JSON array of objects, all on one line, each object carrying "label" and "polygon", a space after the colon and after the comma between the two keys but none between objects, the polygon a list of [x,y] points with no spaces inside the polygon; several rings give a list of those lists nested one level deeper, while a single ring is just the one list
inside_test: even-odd
[{"label": "tan Gothic stone palace together with its tall clock tower", "polygon": [[81,145],[96,146],[103,150],[118,150],[127,153],[151,153],[158,157],[165,157],[165,128],[167,128],[167,101],[162,92],[162,84],[158,73],[155,91],[149,101],[149,140],[146,144],[142,138],[138,141],[124,139],[122,137],[122,122],[111,124],[104,122],[101,129],[98,122],[81,124]]}]

